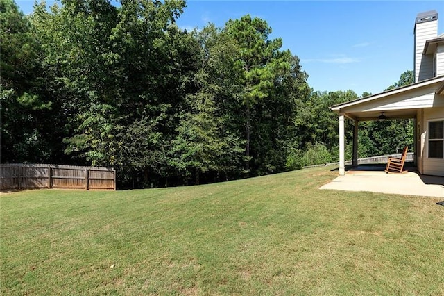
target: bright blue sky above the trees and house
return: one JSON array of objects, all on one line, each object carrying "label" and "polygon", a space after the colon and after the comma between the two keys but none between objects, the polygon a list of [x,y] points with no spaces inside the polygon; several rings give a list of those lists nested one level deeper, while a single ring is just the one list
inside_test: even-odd
[{"label": "bright blue sky above the trees and house", "polygon": [[[34,1],[16,2],[31,13]],[[300,58],[311,88],[360,95],[382,92],[413,69],[413,26],[427,10],[438,11],[438,33],[444,33],[444,1],[189,0],[177,24],[192,29],[260,17],[273,29],[271,38],[282,38],[282,49]]]}]

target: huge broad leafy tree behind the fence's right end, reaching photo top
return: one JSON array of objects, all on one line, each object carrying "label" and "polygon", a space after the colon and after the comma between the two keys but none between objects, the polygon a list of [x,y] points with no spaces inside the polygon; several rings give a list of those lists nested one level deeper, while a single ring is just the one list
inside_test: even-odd
[{"label": "huge broad leafy tree behind the fence's right end, reaching photo top", "polygon": [[117,167],[126,181],[139,171],[164,174],[163,147],[173,139],[195,71],[196,42],[174,24],[183,6],[65,0],[35,8],[46,80],[70,128],[67,154]]}]

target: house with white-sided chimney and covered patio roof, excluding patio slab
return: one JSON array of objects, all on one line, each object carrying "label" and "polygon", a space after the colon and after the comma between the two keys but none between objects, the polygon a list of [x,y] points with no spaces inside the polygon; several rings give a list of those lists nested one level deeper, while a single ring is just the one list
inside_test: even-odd
[{"label": "house with white-sided chimney and covered patio roof, excluding patio slab", "polygon": [[438,13],[419,13],[414,28],[415,83],[330,107],[339,114],[339,174],[345,174],[344,120],[354,121],[353,165],[359,122],[413,118],[415,162],[420,174],[444,176],[444,34]]}]

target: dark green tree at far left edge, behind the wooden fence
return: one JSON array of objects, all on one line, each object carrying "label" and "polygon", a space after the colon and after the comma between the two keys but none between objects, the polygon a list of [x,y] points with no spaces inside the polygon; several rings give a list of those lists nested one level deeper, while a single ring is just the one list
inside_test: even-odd
[{"label": "dark green tree at far left edge, behind the wooden fence", "polygon": [[33,27],[12,0],[0,1],[0,51],[0,161],[49,161],[57,148],[49,131],[54,106],[42,92]]}]

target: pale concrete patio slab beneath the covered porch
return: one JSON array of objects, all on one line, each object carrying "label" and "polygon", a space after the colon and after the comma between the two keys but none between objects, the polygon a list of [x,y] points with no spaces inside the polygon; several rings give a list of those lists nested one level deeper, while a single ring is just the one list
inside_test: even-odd
[{"label": "pale concrete patio slab beneath the covered porch", "polygon": [[386,174],[380,170],[349,170],[319,189],[370,191],[397,195],[444,197],[444,177],[417,172]]}]

